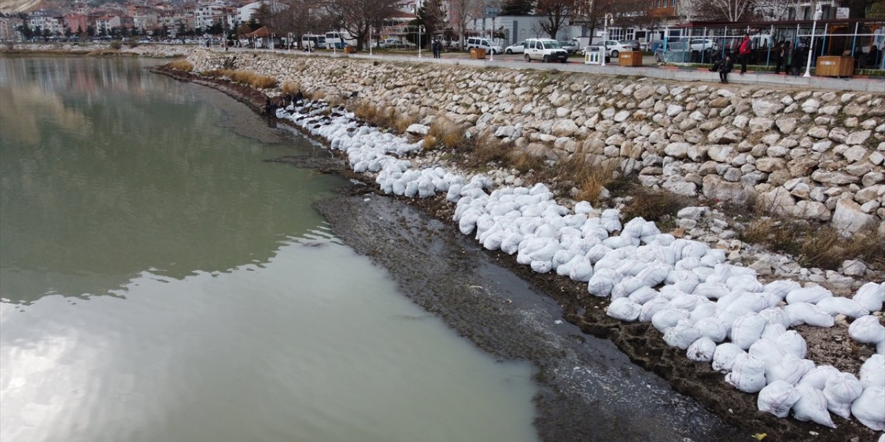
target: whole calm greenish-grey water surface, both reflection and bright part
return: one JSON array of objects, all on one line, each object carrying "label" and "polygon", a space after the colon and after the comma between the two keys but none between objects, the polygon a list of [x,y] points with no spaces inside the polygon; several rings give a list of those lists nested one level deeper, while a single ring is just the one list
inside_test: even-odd
[{"label": "whole calm greenish-grey water surface, both reflection and bright part", "polygon": [[535,440],[529,367],[261,161],[323,151],[150,63],[0,57],[0,440]]}]

